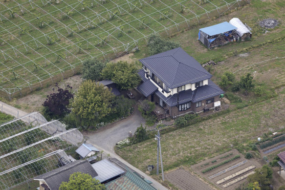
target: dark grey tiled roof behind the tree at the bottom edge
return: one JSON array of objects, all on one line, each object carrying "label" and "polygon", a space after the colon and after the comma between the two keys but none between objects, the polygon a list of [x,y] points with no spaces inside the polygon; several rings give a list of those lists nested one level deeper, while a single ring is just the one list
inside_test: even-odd
[{"label": "dark grey tiled roof behind the tree at the bottom edge", "polygon": [[93,178],[98,175],[87,160],[77,160],[39,175],[34,180],[44,180],[50,190],[58,190],[62,182],[68,182],[69,176],[74,172],[88,173]]}]

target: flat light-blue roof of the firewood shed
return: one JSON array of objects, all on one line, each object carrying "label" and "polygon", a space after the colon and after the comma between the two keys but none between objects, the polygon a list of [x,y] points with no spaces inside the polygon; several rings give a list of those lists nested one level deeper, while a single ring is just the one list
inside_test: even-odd
[{"label": "flat light-blue roof of the firewood shed", "polygon": [[216,34],[222,34],[235,29],[237,29],[237,27],[233,26],[229,22],[222,22],[213,26],[201,28],[199,30],[208,34],[209,36],[214,36]]}]

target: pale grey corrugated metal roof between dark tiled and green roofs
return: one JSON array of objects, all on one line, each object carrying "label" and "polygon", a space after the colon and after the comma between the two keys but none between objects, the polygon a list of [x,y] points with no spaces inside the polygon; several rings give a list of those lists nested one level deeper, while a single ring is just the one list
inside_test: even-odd
[{"label": "pale grey corrugated metal roof between dark tiled and green roofs", "polygon": [[107,181],[115,176],[121,175],[125,172],[123,169],[118,168],[106,159],[92,164],[92,167],[98,173],[98,176],[95,178],[98,179],[100,183]]}]

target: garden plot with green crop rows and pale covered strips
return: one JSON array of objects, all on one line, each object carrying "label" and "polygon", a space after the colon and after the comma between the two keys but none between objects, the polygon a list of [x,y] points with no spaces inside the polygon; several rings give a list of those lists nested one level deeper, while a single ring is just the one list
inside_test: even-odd
[{"label": "garden plot with green crop rows and pale covered strips", "polygon": [[247,176],[258,167],[258,162],[245,159],[241,153],[233,149],[191,168],[220,188],[232,190],[246,182]]}]

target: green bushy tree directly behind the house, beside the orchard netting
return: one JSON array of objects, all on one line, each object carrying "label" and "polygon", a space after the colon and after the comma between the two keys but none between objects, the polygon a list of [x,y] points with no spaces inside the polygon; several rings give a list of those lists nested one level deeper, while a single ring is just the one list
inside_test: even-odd
[{"label": "green bushy tree directly behind the house, beside the orchard netting", "polygon": [[168,51],[179,47],[177,42],[162,39],[159,35],[152,34],[148,39],[148,48],[151,55],[155,55],[164,51]]}]

